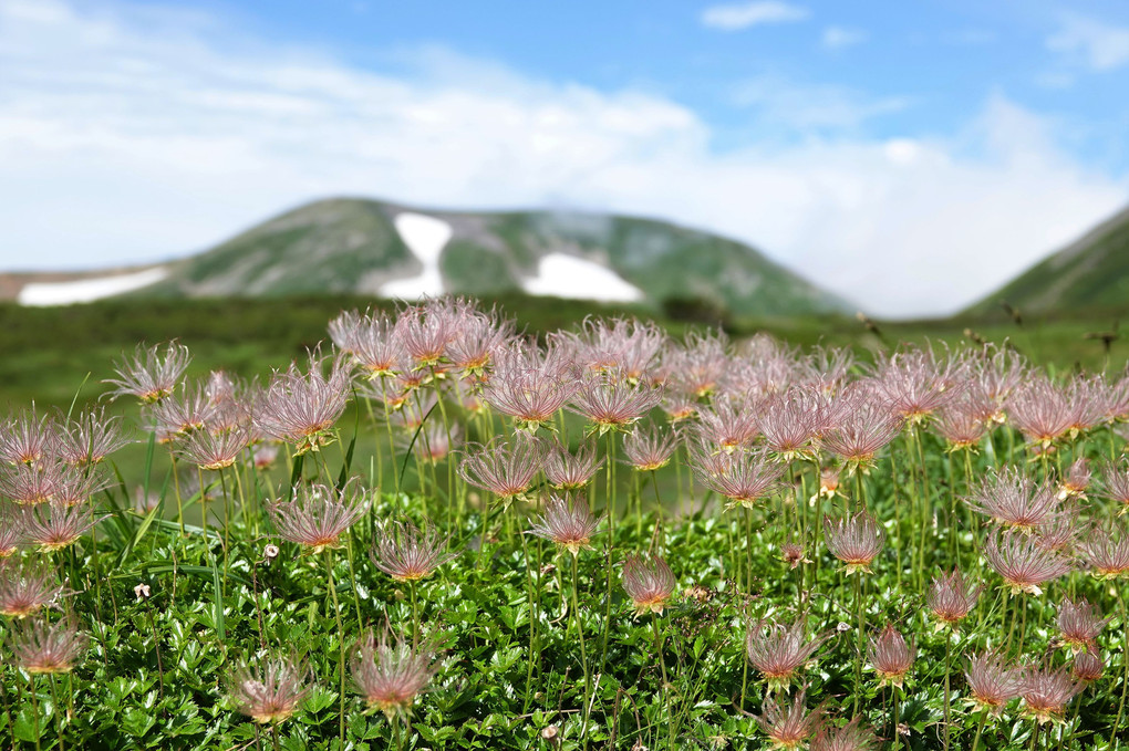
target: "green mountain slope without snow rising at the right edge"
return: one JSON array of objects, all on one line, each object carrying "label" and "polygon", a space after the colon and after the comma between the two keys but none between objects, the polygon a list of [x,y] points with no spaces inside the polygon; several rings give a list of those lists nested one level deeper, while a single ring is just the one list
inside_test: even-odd
[{"label": "green mountain slope without snow rising at the right edge", "polygon": [[999,310],[1001,301],[1021,312],[1129,308],[1129,206],[965,312]]}]

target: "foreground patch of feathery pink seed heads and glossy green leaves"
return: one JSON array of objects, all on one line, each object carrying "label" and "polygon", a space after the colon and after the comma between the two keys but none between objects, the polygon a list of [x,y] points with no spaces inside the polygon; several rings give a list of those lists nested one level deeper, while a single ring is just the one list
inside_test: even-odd
[{"label": "foreground patch of feathery pink seed heads and glossy green leaves", "polygon": [[1124,745],[1123,376],[449,300],[329,332],[14,408],[12,745]]}]

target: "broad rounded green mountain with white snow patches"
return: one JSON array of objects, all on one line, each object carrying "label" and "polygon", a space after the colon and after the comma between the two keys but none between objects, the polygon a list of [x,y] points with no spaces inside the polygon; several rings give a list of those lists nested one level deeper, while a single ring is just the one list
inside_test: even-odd
[{"label": "broad rounded green mountain with white snow patches", "polygon": [[[749,246],[667,222],[430,211],[360,198],[306,204],[157,268],[69,283],[108,281],[114,295],[161,298],[525,291],[650,306],[701,300],[736,315],[849,310]],[[50,286],[29,284],[20,299],[50,302]]]}]

